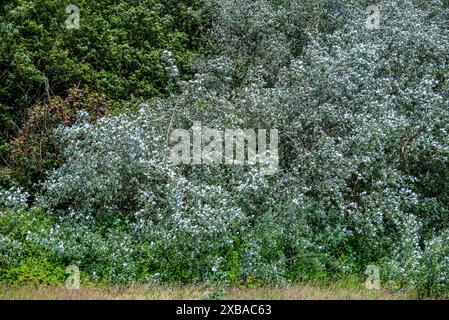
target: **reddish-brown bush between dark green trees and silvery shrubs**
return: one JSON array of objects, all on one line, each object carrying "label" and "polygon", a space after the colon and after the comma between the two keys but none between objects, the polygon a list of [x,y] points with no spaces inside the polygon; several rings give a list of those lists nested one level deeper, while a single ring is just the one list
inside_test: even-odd
[{"label": "reddish-brown bush between dark green trees and silvery shrubs", "polygon": [[72,88],[64,100],[54,97],[46,104],[33,106],[27,121],[10,145],[10,180],[29,191],[35,191],[36,182],[59,164],[59,146],[51,137],[53,130],[59,125],[72,125],[80,110],[89,112],[88,120],[95,122],[105,114],[107,105],[102,95]]}]

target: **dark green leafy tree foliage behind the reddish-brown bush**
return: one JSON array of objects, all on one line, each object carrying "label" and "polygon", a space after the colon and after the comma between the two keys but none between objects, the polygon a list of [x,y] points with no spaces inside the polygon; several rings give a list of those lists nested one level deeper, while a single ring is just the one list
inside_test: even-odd
[{"label": "dark green leafy tree foliage behind the reddish-brown bush", "polygon": [[[5,0],[0,5],[0,156],[30,106],[77,85],[123,101],[166,94],[163,50],[185,74],[199,45],[201,1]],[[68,4],[80,29],[67,29]]]}]

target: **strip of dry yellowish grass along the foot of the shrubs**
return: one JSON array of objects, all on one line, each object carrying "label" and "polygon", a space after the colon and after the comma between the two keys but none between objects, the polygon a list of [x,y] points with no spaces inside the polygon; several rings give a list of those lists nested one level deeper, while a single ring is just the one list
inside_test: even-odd
[{"label": "strip of dry yellowish grass along the foot of the shrubs", "polygon": [[[200,300],[210,292],[204,285],[131,286],[128,288],[20,286],[0,287],[1,300]],[[301,284],[289,287],[229,288],[221,299],[241,300],[404,300],[415,299],[411,293],[367,290],[362,286],[335,284],[321,287]]]}]

